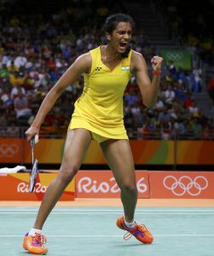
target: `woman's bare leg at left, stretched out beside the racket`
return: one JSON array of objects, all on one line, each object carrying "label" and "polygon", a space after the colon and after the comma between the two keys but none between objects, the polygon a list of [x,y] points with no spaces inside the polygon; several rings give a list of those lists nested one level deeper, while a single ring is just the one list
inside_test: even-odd
[{"label": "woman's bare leg at left, stretched out beside the racket", "polygon": [[66,189],[67,185],[78,172],[84,153],[90,145],[90,141],[90,131],[85,129],[68,130],[61,169],[57,177],[49,184],[43,197],[38,211],[38,217],[34,224],[35,229],[42,230],[43,224],[49,216],[49,212],[55,207],[55,203],[60,199],[64,189]]}]

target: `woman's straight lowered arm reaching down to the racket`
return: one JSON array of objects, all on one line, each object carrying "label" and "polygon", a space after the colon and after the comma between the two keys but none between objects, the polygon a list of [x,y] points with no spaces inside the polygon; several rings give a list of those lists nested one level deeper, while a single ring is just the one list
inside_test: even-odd
[{"label": "woman's straight lowered arm reaching down to the racket", "polygon": [[61,76],[61,79],[49,90],[49,93],[43,99],[43,102],[38,109],[38,113],[32,122],[31,127],[26,131],[26,138],[29,141],[33,136],[37,135],[40,126],[43,123],[47,113],[54,106],[56,100],[61,96],[62,92],[67,87],[75,82],[82,73],[89,73],[91,68],[90,53],[80,55],[72,66]]}]

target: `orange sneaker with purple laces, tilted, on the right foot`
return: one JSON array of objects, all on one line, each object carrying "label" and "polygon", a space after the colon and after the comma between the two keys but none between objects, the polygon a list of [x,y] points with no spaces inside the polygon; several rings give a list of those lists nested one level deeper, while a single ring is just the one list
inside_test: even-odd
[{"label": "orange sneaker with purple laces, tilted, on the right foot", "polygon": [[[135,223],[136,224],[136,223]],[[134,228],[127,228],[124,224],[124,216],[120,217],[117,220],[117,226],[121,230],[127,230],[128,232],[124,235],[124,240],[130,239],[131,236],[135,236],[137,240],[142,241],[143,243],[152,243],[153,236],[147,230],[145,225],[136,224]]]}]

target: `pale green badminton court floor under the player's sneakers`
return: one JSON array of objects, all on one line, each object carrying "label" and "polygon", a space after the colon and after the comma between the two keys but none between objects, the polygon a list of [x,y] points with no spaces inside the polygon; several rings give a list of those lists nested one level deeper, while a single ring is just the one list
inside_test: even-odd
[{"label": "pale green badminton court floor under the player's sneakers", "polygon": [[[29,255],[22,237],[38,207],[0,207],[0,255]],[[44,225],[49,253],[55,256],[213,256],[214,207],[138,207],[136,221],[153,233],[152,245],[115,224],[121,207],[55,207]]]}]

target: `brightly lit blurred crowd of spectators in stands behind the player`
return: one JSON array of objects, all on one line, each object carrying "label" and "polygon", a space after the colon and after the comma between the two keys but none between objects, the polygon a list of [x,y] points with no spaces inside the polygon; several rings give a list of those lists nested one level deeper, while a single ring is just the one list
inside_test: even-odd
[{"label": "brightly lit blurred crowd of spectators in stands behind the player", "polygon": [[[3,16],[0,137],[19,137],[20,127],[32,123],[43,97],[67,67],[78,55],[101,44],[101,24],[109,9],[102,4],[91,8],[92,0],[80,2],[84,2],[84,9],[78,1],[70,1],[67,8],[61,7],[48,17]],[[115,11],[118,8],[115,5]],[[93,22],[87,22],[92,17]],[[149,67],[155,49],[145,42],[140,29],[138,32],[130,44],[144,55]],[[133,76],[124,93],[124,124],[129,137],[213,139],[213,120],[205,116],[192,96],[193,92],[200,93],[201,73],[198,67],[184,71],[169,63],[162,70],[158,102],[152,109],[143,105]],[[81,96],[83,87],[83,77],[68,86],[44,120],[42,136],[48,133],[51,137],[61,137],[66,133],[74,102]]]}]

